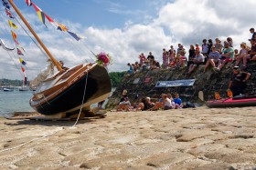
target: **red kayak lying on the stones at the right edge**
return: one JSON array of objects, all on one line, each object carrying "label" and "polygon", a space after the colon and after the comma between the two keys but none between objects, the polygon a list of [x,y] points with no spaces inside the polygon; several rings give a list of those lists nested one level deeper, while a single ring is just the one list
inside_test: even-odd
[{"label": "red kayak lying on the stones at the right edge", "polygon": [[256,106],[256,94],[237,95],[234,97],[210,100],[206,102],[208,107],[240,107],[240,106]]}]

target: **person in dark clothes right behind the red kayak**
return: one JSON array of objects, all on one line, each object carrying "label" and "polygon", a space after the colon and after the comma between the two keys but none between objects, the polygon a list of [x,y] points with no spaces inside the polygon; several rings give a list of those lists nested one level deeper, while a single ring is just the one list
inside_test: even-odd
[{"label": "person in dark clothes right behind the red kayak", "polygon": [[241,72],[239,66],[234,66],[233,75],[229,81],[229,89],[233,92],[233,96],[240,95],[246,88],[246,81],[250,78],[251,74]]}]

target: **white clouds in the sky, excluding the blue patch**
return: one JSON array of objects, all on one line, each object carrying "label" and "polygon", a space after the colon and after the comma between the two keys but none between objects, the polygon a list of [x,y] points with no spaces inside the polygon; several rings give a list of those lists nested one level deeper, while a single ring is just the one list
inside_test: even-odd
[{"label": "white clouds in the sky, excluding the blue patch", "polygon": [[[164,5],[159,7],[159,3]],[[68,25],[70,30],[87,37],[81,42],[70,40],[69,35],[61,35],[60,32],[52,29],[45,32],[46,29],[43,28],[44,32],[39,35],[46,42],[49,51],[58,60],[64,60],[67,66],[78,65],[85,59],[91,61],[91,58],[95,58],[91,51],[95,54],[104,51],[112,55],[113,64],[110,65],[110,71],[123,71],[128,69],[126,66],[128,62],[138,61],[138,55],[142,52],[147,55],[152,51],[156,59],[162,62],[162,48],[168,48],[169,45],[176,47],[177,43],[188,46],[195,43],[201,44],[204,38],[219,37],[224,40],[230,36],[236,47],[241,42],[249,44],[248,38],[251,37],[249,29],[255,27],[253,16],[256,13],[254,7],[256,1],[254,0],[237,0],[236,2],[163,0],[159,3],[155,5],[159,10],[157,17],[152,18],[152,15],[146,14],[136,16],[150,20],[146,22],[148,24],[134,24],[135,22],[129,18],[126,23],[123,23],[123,28],[103,29],[91,26],[77,32],[81,29],[81,25],[65,21],[63,24]],[[32,21],[37,20],[35,16],[31,18]],[[36,27],[36,30],[42,30],[42,25],[40,28]],[[27,43],[23,45],[29,54],[27,67],[30,77],[33,78],[46,66],[46,58],[35,45]],[[19,74],[15,74],[16,68],[3,50],[0,54],[0,71],[0,77],[22,78]]]}]

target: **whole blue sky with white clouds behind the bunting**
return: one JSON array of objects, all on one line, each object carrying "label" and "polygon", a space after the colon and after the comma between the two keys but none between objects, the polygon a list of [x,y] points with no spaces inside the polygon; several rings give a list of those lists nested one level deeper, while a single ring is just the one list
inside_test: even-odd
[{"label": "whole blue sky with white clouds behind the bunting", "polygon": [[[32,0],[47,15],[66,25],[69,31],[82,37],[76,41],[56,30],[46,21],[40,23],[33,6],[24,0],[14,0],[37,35],[57,60],[72,67],[94,62],[101,52],[112,56],[109,71],[128,70],[127,63],[139,61],[138,55],[152,52],[162,63],[162,50],[181,43],[188,51],[189,45],[202,44],[202,39],[232,37],[234,47],[251,38],[249,29],[255,27],[255,0]],[[13,9],[18,23],[22,23]],[[0,8],[0,38],[7,47],[15,47],[7,25],[4,7]],[[14,30],[17,41],[26,53],[27,77],[32,80],[47,65],[47,56],[30,40],[19,25]],[[27,28],[25,28],[27,30]],[[0,47],[0,78],[23,79],[16,52],[6,52]]]}]

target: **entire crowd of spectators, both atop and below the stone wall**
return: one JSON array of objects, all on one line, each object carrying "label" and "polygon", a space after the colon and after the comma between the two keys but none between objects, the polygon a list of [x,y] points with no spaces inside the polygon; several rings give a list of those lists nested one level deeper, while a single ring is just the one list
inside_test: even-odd
[{"label": "entire crowd of spectators, both atop and below the stone wall", "polygon": [[[171,45],[168,51],[165,48],[163,49],[162,65],[155,61],[155,56],[152,52],[149,52],[147,57],[142,53],[139,55],[139,62],[135,62],[132,65],[128,63],[128,73],[134,74],[149,69],[176,69],[187,66],[187,75],[190,75],[198,65],[204,65],[203,73],[207,72],[210,65],[214,71],[219,72],[225,65],[231,62],[233,64],[233,74],[229,80],[228,91],[232,92],[232,96],[240,95],[246,88],[246,81],[251,77],[250,73],[245,72],[248,67],[247,64],[250,61],[256,61],[256,32],[254,28],[251,28],[250,32],[252,34],[249,39],[251,47],[242,42],[240,43],[240,50],[234,49],[231,37],[228,37],[223,42],[223,45],[219,38],[215,39],[215,44],[213,44],[211,39],[203,39],[201,46],[198,44],[195,44],[195,46],[190,45],[187,59],[187,52],[183,45],[178,44],[176,50]],[[178,94],[175,94],[175,98],[170,94],[162,94],[159,101],[155,103],[151,102],[150,97],[147,96],[142,98],[138,104],[131,105],[127,96],[127,90],[124,90],[122,99],[117,106],[117,111],[129,111],[131,109],[142,111],[168,110],[184,106]]]}]

